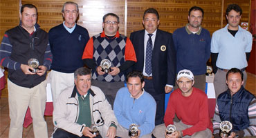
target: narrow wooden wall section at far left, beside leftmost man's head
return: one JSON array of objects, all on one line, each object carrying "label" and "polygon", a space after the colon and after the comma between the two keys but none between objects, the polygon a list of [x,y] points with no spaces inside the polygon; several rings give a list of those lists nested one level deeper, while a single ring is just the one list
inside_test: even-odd
[{"label": "narrow wooden wall section at far left, beside leftmost man's head", "polygon": [[19,0],[0,0],[0,41],[6,30],[19,23]]}]

